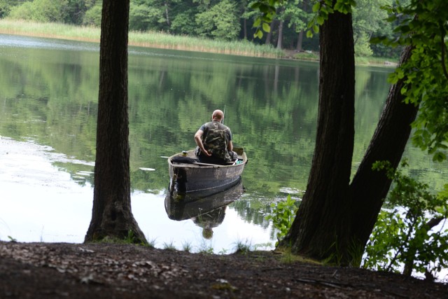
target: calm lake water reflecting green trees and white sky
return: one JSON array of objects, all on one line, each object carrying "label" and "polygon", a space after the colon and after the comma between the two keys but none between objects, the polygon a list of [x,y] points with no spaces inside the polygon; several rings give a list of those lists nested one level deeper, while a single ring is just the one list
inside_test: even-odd
[{"label": "calm lake water reflecting green trees and white sky", "polygon": [[[130,48],[132,211],[158,248],[230,253],[237,243],[272,249],[269,204],[307,184],[318,111],[318,64]],[[90,223],[99,45],[0,36],[0,239],[83,242]],[[391,69],[356,69],[353,172],[388,93]],[[211,239],[193,219],[167,216],[166,157],[194,148],[193,134],[225,110],[249,162],[245,192]],[[447,167],[409,147],[409,172],[434,190]]]}]

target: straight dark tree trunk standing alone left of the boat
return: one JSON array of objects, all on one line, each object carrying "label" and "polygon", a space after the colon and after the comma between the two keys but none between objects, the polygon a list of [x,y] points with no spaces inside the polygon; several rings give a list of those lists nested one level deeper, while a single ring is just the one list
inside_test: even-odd
[{"label": "straight dark tree trunk standing alone left of the boat", "polygon": [[127,112],[129,8],[130,0],[103,1],[93,209],[85,242],[105,237],[132,237],[133,242],[147,242],[132,215],[130,199]]}]

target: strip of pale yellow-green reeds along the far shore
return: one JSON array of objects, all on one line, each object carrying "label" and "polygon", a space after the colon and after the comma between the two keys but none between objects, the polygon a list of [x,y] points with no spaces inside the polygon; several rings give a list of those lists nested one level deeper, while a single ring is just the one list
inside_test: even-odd
[{"label": "strip of pale yellow-green reeds along the far shore", "polygon": [[[0,20],[0,33],[99,43],[101,32],[99,27]],[[285,56],[282,50],[276,50],[272,46],[255,45],[248,41],[216,41],[191,36],[174,36],[163,32],[129,32],[129,45],[253,57]]]}]

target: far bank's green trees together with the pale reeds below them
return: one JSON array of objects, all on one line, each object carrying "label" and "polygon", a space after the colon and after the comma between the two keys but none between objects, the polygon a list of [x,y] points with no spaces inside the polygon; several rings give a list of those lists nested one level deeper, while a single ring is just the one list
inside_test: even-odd
[{"label": "far bank's green trees together with the pale reeds below them", "polygon": [[[395,61],[398,50],[371,45],[370,37],[392,34],[379,5],[358,0],[353,11],[353,39],[362,64]],[[392,0],[381,0],[381,4]],[[318,35],[307,38],[313,13],[310,0],[284,1],[269,32],[255,38],[258,11],[251,1],[130,1],[131,46],[200,52],[318,60]],[[101,0],[0,1],[0,32],[99,41]],[[381,57],[381,58],[379,58]]]}]

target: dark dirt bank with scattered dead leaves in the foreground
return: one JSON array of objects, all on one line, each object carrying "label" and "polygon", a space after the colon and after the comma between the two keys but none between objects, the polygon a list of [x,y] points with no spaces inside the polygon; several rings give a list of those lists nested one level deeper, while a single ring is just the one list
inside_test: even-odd
[{"label": "dark dirt bank with scattered dead leaves in the foreground", "polygon": [[448,285],[271,251],[0,242],[0,298],[448,298]]}]

